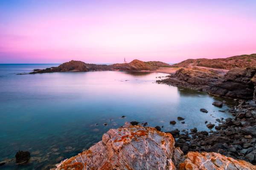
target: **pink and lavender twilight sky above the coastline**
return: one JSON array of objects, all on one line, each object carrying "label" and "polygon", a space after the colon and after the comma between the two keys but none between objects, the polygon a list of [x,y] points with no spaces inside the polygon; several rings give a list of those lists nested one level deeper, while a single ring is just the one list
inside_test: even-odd
[{"label": "pink and lavender twilight sky above the coastline", "polygon": [[0,63],[256,53],[256,0],[0,0]]}]

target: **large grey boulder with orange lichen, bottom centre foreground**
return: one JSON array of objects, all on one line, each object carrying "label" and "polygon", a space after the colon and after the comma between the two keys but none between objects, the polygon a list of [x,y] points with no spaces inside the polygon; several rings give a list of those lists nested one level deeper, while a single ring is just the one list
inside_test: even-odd
[{"label": "large grey boulder with orange lichen, bottom centre foreground", "polygon": [[174,170],[174,138],[152,127],[126,123],[111,129],[89,150],[58,164],[57,170]]}]

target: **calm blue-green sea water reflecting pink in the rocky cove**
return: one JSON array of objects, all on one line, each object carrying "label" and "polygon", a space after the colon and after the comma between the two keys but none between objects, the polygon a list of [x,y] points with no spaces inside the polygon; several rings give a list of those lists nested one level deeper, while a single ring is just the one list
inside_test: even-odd
[{"label": "calm blue-green sea water reflecting pink in the rocky cove", "polygon": [[[148,122],[148,126],[163,126],[163,131],[209,130],[206,120],[215,123],[217,118],[231,116],[212,105],[221,98],[155,83],[167,75],[162,73],[17,75],[53,66],[57,65],[0,64],[0,161],[10,162],[0,169],[49,169],[88,149],[103,133],[125,122]],[[227,110],[228,105],[222,109]],[[185,118],[185,123],[177,116]],[[177,124],[170,125],[172,120]],[[18,150],[31,153],[29,164],[15,165]]]}]

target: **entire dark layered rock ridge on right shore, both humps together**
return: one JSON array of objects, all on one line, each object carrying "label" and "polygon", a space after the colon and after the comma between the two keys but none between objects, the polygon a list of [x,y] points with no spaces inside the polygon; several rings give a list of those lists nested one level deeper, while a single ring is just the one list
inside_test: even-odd
[{"label": "entire dark layered rock ridge on right shore, both humps together", "polygon": [[256,68],[233,68],[224,76],[206,68],[181,68],[157,82],[207,91],[215,96],[256,99]]}]

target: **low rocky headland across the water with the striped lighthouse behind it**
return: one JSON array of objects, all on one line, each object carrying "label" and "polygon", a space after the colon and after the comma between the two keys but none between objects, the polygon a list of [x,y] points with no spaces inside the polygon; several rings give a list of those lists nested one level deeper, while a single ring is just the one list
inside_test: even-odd
[{"label": "low rocky headland across the water with the striped lighthouse behind it", "polygon": [[81,61],[70,61],[65,62],[58,67],[46,68],[46,69],[35,69],[30,74],[36,73],[52,73],[52,72],[67,72],[67,71],[154,71],[159,67],[169,66],[164,62],[150,61],[143,62],[138,59],[134,59],[129,63],[122,64],[113,64],[113,65],[96,65],[96,64],[87,64]]}]

